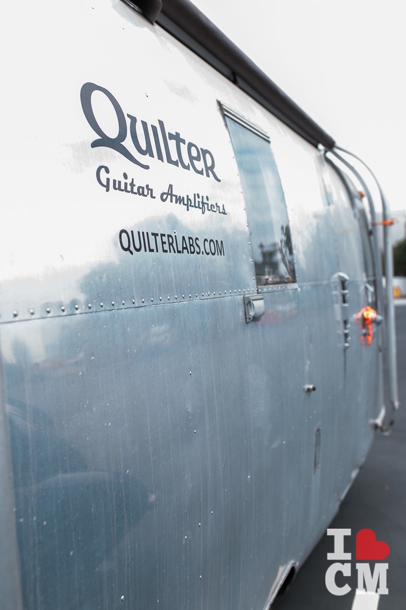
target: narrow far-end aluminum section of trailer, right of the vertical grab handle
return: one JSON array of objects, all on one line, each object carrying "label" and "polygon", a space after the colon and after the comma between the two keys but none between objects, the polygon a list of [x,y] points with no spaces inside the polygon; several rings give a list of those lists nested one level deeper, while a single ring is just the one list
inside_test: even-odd
[{"label": "narrow far-end aluminum section of trailer, right of the vertical grab handle", "polygon": [[373,426],[369,420],[377,416],[374,405],[382,391],[379,375],[380,339],[374,325],[373,336],[366,340],[366,330],[362,324],[365,307],[376,307],[373,257],[365,210],[360,202],[357,205],[343,178],[332,167],[325,170],[339,269],[337,296],[343,337],[345,409],[342,436],[349,440],[347,450],[341,452],[341,492],[344,492],[349,483],[349,473],[355,473],[362,464],[371,443]]}]

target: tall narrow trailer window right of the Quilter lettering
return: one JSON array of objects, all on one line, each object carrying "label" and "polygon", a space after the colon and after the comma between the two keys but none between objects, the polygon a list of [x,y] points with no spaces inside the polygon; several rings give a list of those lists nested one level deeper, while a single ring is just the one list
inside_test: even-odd
[{"label": "tall narrow trailer window right of the Quilter lettering", "polygon": [[222,110],[242,182],[258,290],[295,282],[292,238],[270,139],[233,111]]}]

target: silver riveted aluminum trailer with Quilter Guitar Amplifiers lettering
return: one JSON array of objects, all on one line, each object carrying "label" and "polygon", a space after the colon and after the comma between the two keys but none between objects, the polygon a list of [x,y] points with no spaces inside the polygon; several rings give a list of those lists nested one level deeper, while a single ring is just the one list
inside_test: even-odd
[{"label": "silver riveted aluminum trailer with Quilter Guitar Amplifiers lettering", "polygon": [[3,24],[1,608],[266,610],[397,406],[371,190],[187,0]]}]

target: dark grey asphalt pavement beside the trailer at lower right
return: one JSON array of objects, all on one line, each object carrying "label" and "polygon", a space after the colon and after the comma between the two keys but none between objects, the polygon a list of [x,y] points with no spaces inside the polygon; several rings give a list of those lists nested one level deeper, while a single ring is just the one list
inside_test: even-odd
[{"label": "dark grey asphalt pavement beside the trailer at lower right", "polygon": [[[351,529],[345,550],[355,558],[355,536],[361,529],[372,529],[378,541],[386,542],[390,554],[387,594],[380,594],[378,610],[406,609],[406,300],[396,302],[397,375],[401,408],[389,436],[377,433],[359,475],[341,504],[330,528]],[[351,540],[351,542],[347,542]],[[357,589],[355,560],[351,576],[337,573],[337,586],[348,583],[345,595],[332,595],[326,587],[326,570],[332,564],[333,538],[325,534],[299,570],[290,588],[276,598],[272,610],[373,610],[373,600],[354,600]],[[348,546],[348,548],[347,548]],[[338,560],[337,560],[338,561]],[[374,564],[371,563],[374,574]],[[379,586],[382,583],[379,584]],[[354,606],[353,606],[354,604]]]}]

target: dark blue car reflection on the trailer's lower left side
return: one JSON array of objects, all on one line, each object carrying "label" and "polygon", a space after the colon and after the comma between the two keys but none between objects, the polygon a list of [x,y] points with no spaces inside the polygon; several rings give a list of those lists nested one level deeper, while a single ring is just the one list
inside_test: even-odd
[{"label": "dark blue car reflection on the trailer's lower left side", "polygon": [[[154,508],[155,495],[128,471],[89,470],[44,412],[16,400],[6,408],[10,442],[16,448],[15,516],[18,544],[24,550],[24,607],[52,608],[55,599],[65,598],[64,607],[78,608],[85,600],[77,592],[72,595],[75,578],[85,578],[87,593],[97,596],[94,583],[100,576],[114,578],[110,558],[145,511]],[[30,587],[33,566],[46,573],[36,580],[35,590]]]}]

